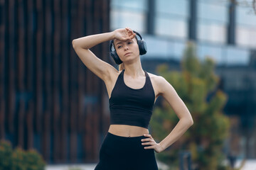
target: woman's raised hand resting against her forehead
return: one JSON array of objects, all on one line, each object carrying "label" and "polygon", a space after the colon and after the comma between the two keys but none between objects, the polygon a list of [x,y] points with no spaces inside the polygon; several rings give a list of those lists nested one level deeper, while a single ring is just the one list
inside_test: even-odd
[{"label": "woman's raised hand resting against her forehead", "polygon": [[117,40],[132,40],[132,38],[135,37],[135,33],[132,31],[131,28],[120,28],[117,30],[114,30],[114,38]]}]

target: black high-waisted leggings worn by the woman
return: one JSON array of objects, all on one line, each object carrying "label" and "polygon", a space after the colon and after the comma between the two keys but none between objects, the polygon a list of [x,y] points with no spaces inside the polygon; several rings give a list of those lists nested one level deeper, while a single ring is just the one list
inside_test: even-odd
[{"label": "black high-waisted leggings worn by the woman", "polygon": [[122,137],[107,132],[95,170],[158,170],[154,149],[144,149],[146,137]]}]

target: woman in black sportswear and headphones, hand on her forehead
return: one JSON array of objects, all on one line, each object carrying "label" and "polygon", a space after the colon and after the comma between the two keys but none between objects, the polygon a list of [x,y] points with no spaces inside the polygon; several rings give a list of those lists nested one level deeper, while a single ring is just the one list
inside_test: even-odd
[{"label": "woman in black sportswear and headphones, hand on her forehead", "polygon": [[[89,50],[109,40],[122,62],[119,71]],[[173,86],[163,77],[142,69],[139,54],[146,49],[138,45],[136,34],[130,28],[75,39],[73,47],[85,66],[105,82],[110,98],[110,129],[95,169],[158,169],[154,152],[164,151],[193,125],[191,113]],[[156,143],[147,127],[158,96],[166,99],[179,121],[164,140]]]}]

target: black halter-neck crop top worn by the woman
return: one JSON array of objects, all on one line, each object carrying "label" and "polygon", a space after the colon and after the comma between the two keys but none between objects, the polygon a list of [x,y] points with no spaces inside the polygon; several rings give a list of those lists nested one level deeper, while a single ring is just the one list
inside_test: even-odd
[{"label": "black halter-neck crop top worn by the woman", "polygon": [[119,74],[110,97],[110,125],[135,125],[148,128],[154,106],[154,89],[146,71],[141,89],[124,84],[124,69]]}]

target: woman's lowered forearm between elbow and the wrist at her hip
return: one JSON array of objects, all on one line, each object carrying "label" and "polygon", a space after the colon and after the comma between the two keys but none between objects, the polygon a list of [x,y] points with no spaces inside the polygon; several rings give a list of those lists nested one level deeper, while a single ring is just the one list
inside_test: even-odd
[{"label": "woman's lowered forearm between elbow and the wrist at her hip", "polygon": [[186,118],[179,120],[171,133],[159,143],[163,148],[163,151],[176,142],[186,132],[186,130],[191,127],[191,125],[191,121]]}]

